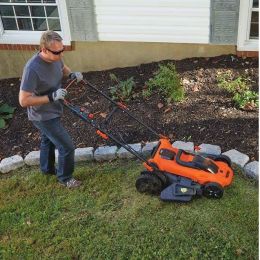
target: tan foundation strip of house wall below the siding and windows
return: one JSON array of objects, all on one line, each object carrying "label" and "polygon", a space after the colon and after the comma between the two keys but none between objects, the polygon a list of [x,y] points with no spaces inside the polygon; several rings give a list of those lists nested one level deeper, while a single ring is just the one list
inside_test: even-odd
[{"label": "tan foundation strip of house wall below the siding and windows", "polygon": [[[75,42],[74,51],[64,53],[64,61],[76,71],[97,71],[142,63],[189,57],[212,57],[235,54],[231,45],[138,43],[138,42]],[[0,51],[0,78],[20,77],[34,51]]]}]

